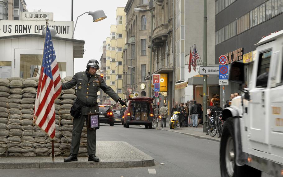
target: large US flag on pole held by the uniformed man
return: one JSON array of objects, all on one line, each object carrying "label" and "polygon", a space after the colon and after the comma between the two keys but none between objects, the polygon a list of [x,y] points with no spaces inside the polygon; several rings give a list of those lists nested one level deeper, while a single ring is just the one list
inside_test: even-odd
[{"label": "large US flag on pole held by the uniformed man", "polygon": [[46,26],[42,66],[35,98],[34,124],[46,132],[52,139],[55,136],[54,100],[60,94],[61,86],[61,77],[51,33],[48,26]]}]

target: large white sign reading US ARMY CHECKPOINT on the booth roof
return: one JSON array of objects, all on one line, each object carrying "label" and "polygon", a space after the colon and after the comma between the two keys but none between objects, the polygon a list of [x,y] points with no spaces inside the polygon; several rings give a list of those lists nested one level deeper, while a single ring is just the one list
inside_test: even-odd
[{"label": "large white sign reading US ARMY CHECKPOINT on the booth roof", "polygon": [[[12,36],[23,34],[40,34],[46,26],[46,21],[32,20],[0,20],[0,36]],[[57,34],[63,38],[72,38],[73,22],[71,21],[49,21]]]}]

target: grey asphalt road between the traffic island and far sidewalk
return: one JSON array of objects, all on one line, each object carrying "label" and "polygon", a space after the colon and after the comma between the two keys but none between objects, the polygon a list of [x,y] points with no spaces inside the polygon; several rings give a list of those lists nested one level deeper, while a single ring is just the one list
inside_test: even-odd
[{"label": "grey asphalt road between the traffic island and far sidewalk", "polygon": [[[197,139],[179,133],[145,129],[140,126],[124,128],[120,124],[102,124],[97,140],[126,141],[155,159],[155,166],[124,169],[21,169],[0,170],[0,176],[41,177],[219,177],[219,142]],[[123,151],[123,149],[117,149]],[[131,153],[131,152],[125,152]],[[63,160],[63,158],[62,158]],[[156,174],[154,174],[156,172]],[[152,174],[153,173],[153,174]],[[268,176],[268,175],[262,175]]]}]

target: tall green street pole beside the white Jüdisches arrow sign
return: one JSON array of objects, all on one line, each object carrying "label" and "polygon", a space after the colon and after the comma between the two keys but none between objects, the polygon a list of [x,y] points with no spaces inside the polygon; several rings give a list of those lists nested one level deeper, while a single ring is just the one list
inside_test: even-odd
[{"label": "tall green street pole beside the white J\u00fcdisches arrow sign", "polygon": [[[204,5],[203,5],[203,66],[206,66],[206,22],[207,22],[207,17],[206,17],[206,0],[203,0]],[[207,122],[206,122],[206,103],[207,103],[207,94],[206,94],[206,86],[207,86],[207,76],[203,75],[203,113],[202,113],[202,132],[207,132]]]}]

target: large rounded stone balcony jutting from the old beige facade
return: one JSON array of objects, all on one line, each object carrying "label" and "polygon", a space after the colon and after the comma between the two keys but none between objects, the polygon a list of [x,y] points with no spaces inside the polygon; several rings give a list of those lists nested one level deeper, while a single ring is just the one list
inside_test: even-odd
[{"label": "large rounded stone balcony jutting from the old beige facade", "polygon": [[168,24],[162,24],[157,26],[153,30],[153,45],[163,45],[163,43],[167,40],[168,33]]}]

